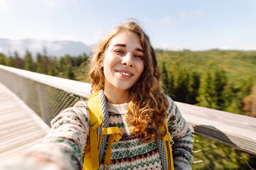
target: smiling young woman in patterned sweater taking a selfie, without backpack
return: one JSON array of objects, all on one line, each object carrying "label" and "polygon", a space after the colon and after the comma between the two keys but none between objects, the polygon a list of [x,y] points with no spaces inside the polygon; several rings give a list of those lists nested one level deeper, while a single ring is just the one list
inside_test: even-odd
[{"label": "smiling young woman in patterned sweater taking a selfie, without backpack", "polygon": [[[175,169],[191,169],[191,130],[161,89],[155,51],[137,23],[117,26],[102,39],[90,57],[89,76],[92,94],[102,91],[107,101],[109,127],[122,132],[107,169],[164,169],[157,141],[166,135],[166,128],[159,133],[165,121],[174,137]],[[82,169],[87,145],[97,145],[87,143],[90,116],[87,101],[80,101],[54,118],[43,144],[30,154],[36,155],[37,169],[46,162],[54,169]]]}]

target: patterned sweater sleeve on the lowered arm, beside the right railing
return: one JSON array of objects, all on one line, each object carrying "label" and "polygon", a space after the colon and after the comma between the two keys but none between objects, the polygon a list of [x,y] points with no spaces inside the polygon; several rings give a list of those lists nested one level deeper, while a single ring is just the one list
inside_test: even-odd
[{"label": "patterned sweater sleeve on the lowered arm, beside the right railing", "polygon": [[169,101],[169,110],[167,112],[168,130],[174,137],[174,145],[172,145],[174,155],[175,169],[192,169],[193,162],[192,153],[192,132],[188,128],[188,123],[181,116],[181,112],[174,101],[167,97]]}]

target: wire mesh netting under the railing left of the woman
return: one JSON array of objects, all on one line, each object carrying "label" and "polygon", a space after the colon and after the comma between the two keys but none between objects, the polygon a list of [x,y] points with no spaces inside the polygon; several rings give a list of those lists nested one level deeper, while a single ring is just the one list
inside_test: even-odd
[{"label": "wire mesh netting under the railing left of the woman", "polygon": [[0,78],[2,84],[21,98],[49,126],[50,120],[58,115],[60,111],[72,107],[80,100],[85,100],[82,96],[68,93],[1,69]]}]

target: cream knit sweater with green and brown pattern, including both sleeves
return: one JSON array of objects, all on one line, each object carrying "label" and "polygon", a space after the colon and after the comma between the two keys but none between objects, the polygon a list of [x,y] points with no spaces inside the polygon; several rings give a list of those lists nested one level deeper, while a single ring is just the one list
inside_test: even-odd
[{"label": "cream knit sweater with green and brown pattern, including both sleeves", "polygon": [[[188,123],[181,117],[174,101],[168,97],[168,129],[174,137],[173,154],[175,169],[191,169],[193,154],[192,135]],[[161,159],[156,142],[144,143],[129,132],[125,122],[128,103],[107,103],[109,126],[119,127],[122,139],[112,145],[110,169],[161,169]],[[26,157],[36,156],[36,161],[26,162],[24,169],[82,169],[87,139],[89,139],[90,114],[87,103],[80,101],[67,108],[51,121],[51,130],[46,139]],[[24,160],[20,159],[24,163]],[[18,162],[18,160],[16,161]],[[48,164],[48,166],[46,166]],[[103,167],[103,161],[100,168]]]}]

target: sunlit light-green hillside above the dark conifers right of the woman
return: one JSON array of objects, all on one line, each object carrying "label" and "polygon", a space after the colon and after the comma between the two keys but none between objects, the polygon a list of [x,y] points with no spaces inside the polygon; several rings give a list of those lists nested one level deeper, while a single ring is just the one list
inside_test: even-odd
[{"label": "sunlit light-green hillside above the dark conifers right of the woman", "polygon": [[[239,86],[242,80],[250,77],[256,78],[256,51],[231,51],[231,50],[207,50],[207,51],[163,51],[156,50],[159,63],[166,62],[171,68],[177,62],[182,63],[189,72],[196,71],[204,75],[210,67],[210,73],[215,69],[223,69],[230,81]],[[168,70],[168,69],[167,69]]]}]

